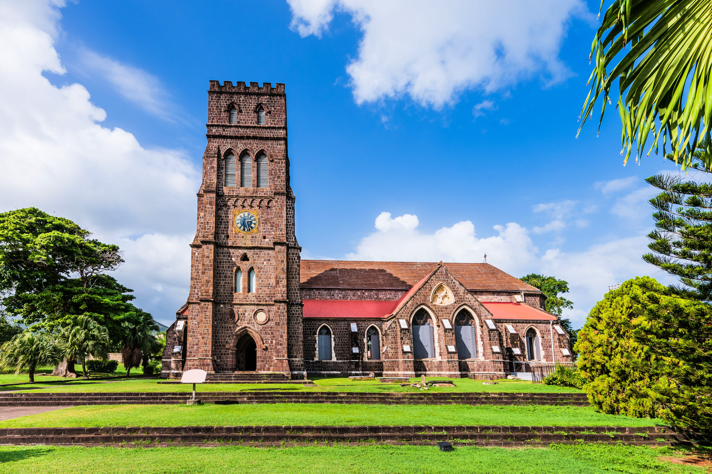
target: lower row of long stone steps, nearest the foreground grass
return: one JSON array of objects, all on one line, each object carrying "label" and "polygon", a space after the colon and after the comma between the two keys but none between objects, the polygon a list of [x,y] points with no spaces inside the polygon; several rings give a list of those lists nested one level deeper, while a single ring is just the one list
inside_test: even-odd
[{"label": "lower row of long stone steps, nearest the foreground grass", "polygon": [[624,443],[693,446],[698,433],[664,426],[174,426],[108,428],[6,428],[0,444],[85,446],[285,446],[303,443],[548,446],[551,443]]}]

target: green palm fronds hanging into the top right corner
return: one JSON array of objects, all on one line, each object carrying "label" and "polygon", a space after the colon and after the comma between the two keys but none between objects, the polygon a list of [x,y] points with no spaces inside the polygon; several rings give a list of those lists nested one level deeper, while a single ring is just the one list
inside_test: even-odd
[{"label": "green palm fronds hanging into the top right corner", "polygon": [[662,136],[663,153],[669,141],[683,169],[704,139],[712,156],[712,0],[616,0],[604,14],[591,58],[595,68],[579,132],[600,95],[603,120],[618,80],[624,163],[635,141],[636,161],[642,158],[650,134],[647,154],[657,152]]}]

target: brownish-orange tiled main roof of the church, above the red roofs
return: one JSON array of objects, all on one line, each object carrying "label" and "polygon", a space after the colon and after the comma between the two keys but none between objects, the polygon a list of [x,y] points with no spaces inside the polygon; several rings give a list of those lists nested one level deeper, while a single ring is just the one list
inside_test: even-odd
[{"label": "brownish-orange tiled main roof of the church, above the red roofs", "polygon": [[[302,260],[303,288],[412,288],[438,265],[434,262]],[[468,290],[539,291],[490,264],[444,264]]]}]

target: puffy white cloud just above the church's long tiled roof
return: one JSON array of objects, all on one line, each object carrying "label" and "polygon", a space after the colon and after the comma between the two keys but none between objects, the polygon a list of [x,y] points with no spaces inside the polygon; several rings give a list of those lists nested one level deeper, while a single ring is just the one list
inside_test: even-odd
[{"label": "puffy white cloud just above the church's long tiled roof", "polygon": [[469,220],[443,227],[434,234],[417,230],[418,217],[391,217],[382,212],[376,218],[376,232],[361,239],[350,260],[389,260],[416,262],[487,262],[515,271],[531,262],[536,252],[525,227],[515,222],[496,225],[498,235],[478,239]]}]

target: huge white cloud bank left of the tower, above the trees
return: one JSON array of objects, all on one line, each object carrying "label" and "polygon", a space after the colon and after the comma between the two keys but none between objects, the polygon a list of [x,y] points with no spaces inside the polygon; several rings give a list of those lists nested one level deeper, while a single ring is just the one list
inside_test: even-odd
[{"label": "huge white cloud bank left of the tower, above the trees", "polygon": [[0,6],[0,209],[35,206],[119,244],[120,282],[170,321],[187,296],[199,171],[182,151],[145,149],[129,132],[101,126],[106,113],[82,85],[43,77],[64,72],[52,38],[58,6]]}]

